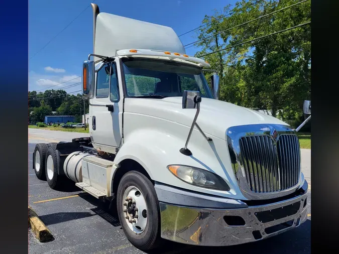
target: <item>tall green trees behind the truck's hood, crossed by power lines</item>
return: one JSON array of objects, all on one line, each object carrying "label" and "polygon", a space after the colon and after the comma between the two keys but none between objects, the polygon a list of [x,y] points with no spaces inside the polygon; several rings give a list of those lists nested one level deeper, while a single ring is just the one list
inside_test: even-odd
[{"label": "tall green trees behind the truck's hood, crossed by power lines", "polygon": [[[299,0],[243,0],[234,8],[205,16],[197,39],[211,36]],[[226,17],[222,18],[222,15]],[[222,18],[221,21],[217,19]],[[310,1],[230,29],[196,43],[196,56],[234,46],[310,21]],[[270,110],[283,120],[303,120],[303,101],[310,99],[310,25],[203,57],[220,76],[220,99],[238,105]],[[210,74],[208,74],[210,75]],[[209,76],[206,75],[206,78]]]}]

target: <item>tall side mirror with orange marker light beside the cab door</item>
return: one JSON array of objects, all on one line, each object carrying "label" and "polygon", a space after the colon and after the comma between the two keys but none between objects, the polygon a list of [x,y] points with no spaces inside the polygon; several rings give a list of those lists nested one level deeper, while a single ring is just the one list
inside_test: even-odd
[{"label": "tall side mirror with orange marker light beside the cab door", "polygon": [[84,61],[82,64],[82,96],[86,98],[94,98],[94,61]]}]

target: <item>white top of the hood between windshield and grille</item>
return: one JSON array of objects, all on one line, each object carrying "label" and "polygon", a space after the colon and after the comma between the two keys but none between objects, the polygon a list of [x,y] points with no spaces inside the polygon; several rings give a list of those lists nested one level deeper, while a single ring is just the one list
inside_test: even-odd
[{"label": "white top of the hood between windshield and grille", "polygon": [[[182,97],[126,98],[125,112],[146,114],[190,127],[196,109],[183,109]],[[288,125],[273,116],[209,98],[202,98],[196,122],[204,133],[223,140],[225,140],[226,130],[231,126],[260,123]]]}]

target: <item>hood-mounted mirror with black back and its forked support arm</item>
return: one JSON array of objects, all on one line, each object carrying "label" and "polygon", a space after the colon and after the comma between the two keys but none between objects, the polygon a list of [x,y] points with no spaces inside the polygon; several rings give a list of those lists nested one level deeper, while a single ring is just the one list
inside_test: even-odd
[{"label": "hood-mounted mirror with black back and its forked support arm", "polygon": [[194,126],[198,129],[198,131],[201,133],[201,135],[207,140],[212,141],[211,138],[206,137],[206,135],[202,132],[199,125],[196,123],[196,119],[198,118],[199,112],[200,112],[200,102],[201,102],[201,96],[199,91],[187,91],[185,90],[182,93],[182,108],[190,108],[194,109],[196,108],[196,113],[191,125],[191,128],[189,129],[188,137],[186,140],[185,147],[181,148],[179,151],[183,155],[191,156],[192,152],[187,148],[189,139],[191,138]]}]

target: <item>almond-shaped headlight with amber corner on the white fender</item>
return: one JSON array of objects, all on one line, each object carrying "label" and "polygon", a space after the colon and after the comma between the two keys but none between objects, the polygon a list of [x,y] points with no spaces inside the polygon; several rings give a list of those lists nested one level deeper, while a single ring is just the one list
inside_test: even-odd
[{"label": "almond-shaped headlight with amber corner on the white fender", "polygon": [[230,187],[221,177],[204,169],[183,165],[169,165],[169,171],[182,181],[204,188],[229,191]]}]

